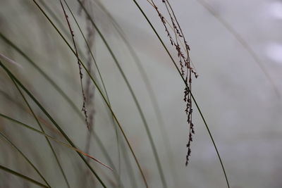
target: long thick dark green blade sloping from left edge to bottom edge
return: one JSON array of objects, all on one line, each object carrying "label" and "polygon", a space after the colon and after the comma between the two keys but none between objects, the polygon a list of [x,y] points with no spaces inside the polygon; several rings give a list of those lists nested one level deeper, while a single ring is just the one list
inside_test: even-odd
[{"label": "long thick dark green blade sloping from left edge to bottom edge", "polygon": [[[35,102],[35,104],[37,104],[37,106],[42,110],[42,112],[47,116],[47,118],[49,118],[49,120],[51,120],[51,122],[56,126],[56,128],[61,132],[61,134],[63,134],[63,137],[66,138],[66,140],[71,144],[71,146],[75,147],[75,144],[73,144],[73,142],[71,141],[71,139],[68,137],[68,135],[61,129],[61,127],[59,126],[58,123],[56,123],[56,121],[51,117],[51,115],[47,112],[47,110],[39,103],[39,101],[37,101],[37,99],[35,99],[35,96],[33,96],[30,91],[25,88],[23,86],[23,84],[15,77],[15,75],[13,75],[11,73],[10,70],[8,70],[8,68],[6,68],[6,66],[0,61],[0,65],[1,67],[6,71],[6,73],[8,73],[8,75],[10,75],[11,77],[13,77],[13,80],[15,80],[17,82],[17,84],[25,91],[25,93],[30,96],[30,98],[32,99],[32,101]],[[91,172],[95,175],[95,177],[97,177],[97,180],[102,184],[103,187],[106,187],[106,185],[104,184],[104,182],[101,180],[101,178],[99,177],[99,175],[97,175],[97,173],[94,171],[94,169],[91,167],[91,165],[89,163],[87,163],[87,161],[85,160],[85,158],[82,156],[81,153],[79,153],[77,151],[78,155],[80,156],[80,158],[82,158],[82,161],[85,162],[85,164],[87,165],[88,168],[90,168]]]}]

